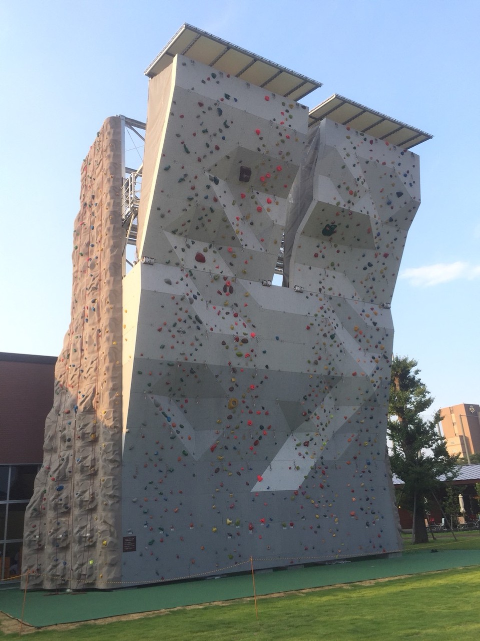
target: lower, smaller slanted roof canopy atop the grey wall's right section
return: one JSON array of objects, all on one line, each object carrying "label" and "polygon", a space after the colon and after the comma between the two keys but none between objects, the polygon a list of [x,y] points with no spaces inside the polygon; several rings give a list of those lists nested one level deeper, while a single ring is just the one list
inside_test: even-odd
[{"label": "lower, smaller slanted roof canopy atop the grey wall's right section", "polygon": [[311,110],[308,115],[308,126],[324,118],[329,118],[338,124],[349,124],[352,129],[379,140],[388,140],[390,144],[402,149],[410,149],[424,140],[433,138],[430,133],[411,127],[386,116],[385,113],[376,112],[339,94],[333,94]]}]

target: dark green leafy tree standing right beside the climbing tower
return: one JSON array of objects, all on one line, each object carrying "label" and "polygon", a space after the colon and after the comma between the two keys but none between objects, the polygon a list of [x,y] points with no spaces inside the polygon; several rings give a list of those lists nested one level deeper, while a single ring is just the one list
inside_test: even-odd
[{"label": "dark green leafy tree standing right beside the climbing tower", "polygon": [[440,410],[433,419],[421,416],[433,403],[418,374],[417,361],[394,356],[388,406],[388,438],[392,440],[390,463],[393,474],[404,482],[402,506],[414,515],[413,542],[428,541],[426,503],[440,487],[440,474],[447,480],[458,474],[458,456],[447,451],[445,438],[437,431]]}]

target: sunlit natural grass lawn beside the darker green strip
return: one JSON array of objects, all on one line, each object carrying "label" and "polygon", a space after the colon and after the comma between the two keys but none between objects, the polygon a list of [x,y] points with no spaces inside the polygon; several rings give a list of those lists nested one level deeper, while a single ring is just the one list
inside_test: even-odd
[{"label": "sunlit natural grass lawn beside the darker green strip", "polygon": [[[479,549],[479,533],[436,536],[418,549]],[[440,639],[468,641],[480,637],[480,568],[443,570],[406,578],[353,583],[343,587],[299,591],[258,599],[258,620],[252,599],[222,605],[179,608],[135,620],[81,624],[71,629],[33,633],[42,639],[83,641],[195,641],[232,639],[261,641],[390,641]],[[18,633],[0,638],[18,638]],[[31,637],[29,637],[31,638]]]}]

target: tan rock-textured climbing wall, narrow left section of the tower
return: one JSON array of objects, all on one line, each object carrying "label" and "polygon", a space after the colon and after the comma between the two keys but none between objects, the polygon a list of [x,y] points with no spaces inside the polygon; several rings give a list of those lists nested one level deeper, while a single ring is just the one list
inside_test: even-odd
[{"label": "tan rock-textured climbing wall, narrow left section of the tower", "polygon": [[104,588],[120,579],[121,133],[120,119],[108,118],[81,167],[72,320],[25,518],[29,587]]}]

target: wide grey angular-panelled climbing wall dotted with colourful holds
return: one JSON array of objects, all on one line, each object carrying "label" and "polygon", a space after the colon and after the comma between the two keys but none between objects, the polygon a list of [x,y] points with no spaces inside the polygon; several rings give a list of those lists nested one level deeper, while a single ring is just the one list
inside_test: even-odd
[{"label": "wide grey angular-panelled climbing wall dotted with colourful holds", "polygon": [[123,285],[126,583],[399,549],[390,301],[418,157],[307,121],[180,55],[150,81]]}]

